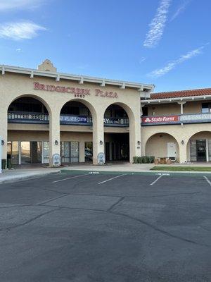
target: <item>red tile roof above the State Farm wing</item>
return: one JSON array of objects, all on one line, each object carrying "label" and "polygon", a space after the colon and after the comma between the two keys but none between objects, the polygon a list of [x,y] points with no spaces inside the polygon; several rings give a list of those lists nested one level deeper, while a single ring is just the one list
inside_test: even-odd
[{"label": "red tile roof above the State Farm wing", "polygon": [[192,96],[203,96],[203,95],[211,95],[211,88],[151,93],[151,99],[165,99],[165,98],[168,99],[168,98],[192,97]]}]

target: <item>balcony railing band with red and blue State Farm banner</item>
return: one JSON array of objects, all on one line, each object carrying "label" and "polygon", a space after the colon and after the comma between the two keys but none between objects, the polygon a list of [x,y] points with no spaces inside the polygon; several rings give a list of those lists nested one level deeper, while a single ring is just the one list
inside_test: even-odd
[{"label": "balcony railing band with red and blue State Farm banner", "polygon": [[142,125],[162,125],[179,123],[210,123],[211,113],[205,114],[183,114],[174,116],[143,116]]}]

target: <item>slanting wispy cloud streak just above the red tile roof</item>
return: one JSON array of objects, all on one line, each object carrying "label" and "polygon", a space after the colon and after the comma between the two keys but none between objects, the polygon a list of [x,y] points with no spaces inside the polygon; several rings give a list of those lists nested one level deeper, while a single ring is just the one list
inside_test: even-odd
[{"label": "slanting wispy cloud streak just above the red tile roof", "polygon": [[170,71],[172,71],[173,68],[175,68],[180,63],[183,63],[184,61],[187,61],[197,56],[198,54],[201,54],[207,44],[197,49],[194,49],[192,51],[189,51],[187,54],[180,56],[179,59],[172,61],[170,63],[167,63],[167,65],[163,68],[158,68],[155,71],[152,71],[151,73],[148,74],[148,76],[151,78],[159,78],[160,76],[165,75],[166,73],[169,73]]}]

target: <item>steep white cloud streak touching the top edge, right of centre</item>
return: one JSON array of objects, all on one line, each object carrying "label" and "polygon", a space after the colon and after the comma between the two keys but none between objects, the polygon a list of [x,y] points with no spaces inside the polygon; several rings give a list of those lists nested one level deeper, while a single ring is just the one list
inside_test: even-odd
[{"label": "steep white cloud streak touching the top edge, right of centre", "polygon": [[162,37],[165,23],[167,20],[167,14],[169,12],[171,0],[161,0],[158,7],[155,18],[149,24],[149,31],[146,35],[146,39],[143,42],[144,47],[155,47]]}]

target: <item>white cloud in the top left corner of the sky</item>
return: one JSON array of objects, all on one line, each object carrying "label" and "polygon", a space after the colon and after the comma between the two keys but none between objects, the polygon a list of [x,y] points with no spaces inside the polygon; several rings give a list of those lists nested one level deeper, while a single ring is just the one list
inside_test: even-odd
[{"label": "white cloud in the top left corner of the sky", "polygon": [[41,0],[0,0],[0,11],[10,11],[17,8],[35,8]]}]

